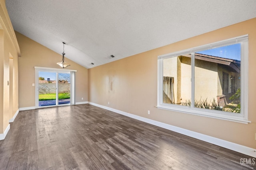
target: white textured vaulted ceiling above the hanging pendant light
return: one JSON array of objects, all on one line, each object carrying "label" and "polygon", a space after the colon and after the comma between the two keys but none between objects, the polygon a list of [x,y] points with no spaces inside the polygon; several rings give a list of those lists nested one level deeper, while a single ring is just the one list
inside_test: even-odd
[{"label": "white textured vaulted ceiling above the hanging pendant light", "polygon": [[65,57],[86,68],[256,17],[256,0],[6,0],[6,7],[14,30],[59,54],[65,42]]}]

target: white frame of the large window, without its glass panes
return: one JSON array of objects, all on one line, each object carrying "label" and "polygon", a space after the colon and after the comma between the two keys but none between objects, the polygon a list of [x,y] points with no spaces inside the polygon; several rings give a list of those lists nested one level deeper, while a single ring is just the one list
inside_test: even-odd
[{"label": "white frame of the large window, without its glass panes", "polygon": [[[194,107],[194,53],[198,51],[204,51],[208,49],[213,49],[216,47],[222,47],[226,45],[232,45],[235,43],[241,43],[241,113],[230,113],[225,111],[217,111],[211,109],[202,109]],[[163,60],[176,57],[179,55],[191,54],[191,106],[180,106],[175,104],[163,103]],[[157,98],[157,108],[167,109],[172,111],[178,111],[182,113],[189,113],[193,115],[200,115],[205,117],[212,117],[216,119],[234,121],[239,123],[251,123],[248,121],[248,35],[242,35],[240,37],[235,37],[231,39],[226,39],[223,41],[218,41],[216,43],[210,43],[207,45],[202,45],[199,47],[194,47],[191,49],[186,49],[174,53],[169,53],[166,55],[158,56],[158,98]]]}]

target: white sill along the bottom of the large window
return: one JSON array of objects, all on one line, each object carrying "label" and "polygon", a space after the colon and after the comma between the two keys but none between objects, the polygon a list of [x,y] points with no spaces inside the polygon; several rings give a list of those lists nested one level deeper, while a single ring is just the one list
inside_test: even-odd
[{"label": "white sill along the bottom of the large window", "polygon": [[251,123],[251,121],[248,121],[246,118],[244,118],[242,116],[212,113],[212,112],[208,112],[208,111],[202,111],[202,109],[192,109],[192,108],[183,108],[183,107],[177,108],[177,107],[168,107],[168,106],[156,106],[156,107],[158,109],[177,111],[177,112],[181,112],[181,113],[188,113],[188,114],[192,114],[192,115],[211,117],[211,118],[227,120],[227,121],[234,121],[234,122],[238,122],[238,123],[244,123],[244,124]]}]

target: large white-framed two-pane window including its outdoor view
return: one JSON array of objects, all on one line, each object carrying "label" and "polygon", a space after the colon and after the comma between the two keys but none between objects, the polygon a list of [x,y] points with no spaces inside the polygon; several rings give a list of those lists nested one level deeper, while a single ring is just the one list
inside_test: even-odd
[{"label": "large white-framed two-pane window including its outdoor view", "polygon": [[158,108],[248,123],[248,35],[158,57]]}]

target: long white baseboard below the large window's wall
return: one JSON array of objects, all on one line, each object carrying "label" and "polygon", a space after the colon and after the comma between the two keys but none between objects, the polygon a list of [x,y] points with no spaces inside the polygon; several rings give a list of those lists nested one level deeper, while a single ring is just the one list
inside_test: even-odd
[{"label": "long white baseboard below the large window's wall", "polygon": [[211,137],[211,136],[208,136],[208,135],[204,135],[204,134],[201,134],[201,133],[197,133],[197,132],[194,132],[194,131],[183,129],[183,128],[176,127],[176,126],[173,126],[173,125],[169,125],[169,124],[162,123],[162,122],[159,122],[159,121],[154,121],[154,120],[151,120],[151,119],[148,119],[148,118],[145,118],[145,117],[133,115],[131,113],[127,113],[127,112],[120,111],[120,110],[117,110],[117,109],[113,109],[113,108],[110,108],[110,107],[102,106],[102,105],[95,104],[95,103],[92,103],[92,102],[88,102],[88,104],[91,104],[93,106],[97,106],[97,107],[100,107],[100,108],[103,108],[103,109],[106,109],[106,110],[109,110],[109,111],[113,111],[113,112],[119,113],[121,115],[131,117],[133,119],[137,119],[137,120],[140,120],[140,121],[143,121],[143,122],[146,122],[146,123],[158,126],[158,127],[162,127],[164,129],[168,129],[170,131],[174,131],[174,132],[177,132],[177,133],[189,136],[189,137],[199,139],[201,141],[212,143],[214,145],[218,145],[220,147],[224,147],[226,149],[234,150],[236,152],[240,152],[242,154],[246,154],[246,155],[249,155],[249,156],[252,156],[252,157],[256,158],[256,149],[253,149],[253,148],[249,148],[249,147],[246,147],[246,146],[243,146],[243,145],[239,145],[239,144],[236,144],[236,143],[232,143],[232,142],[229,142],[229,141],[218,139],[216,137]]}]

